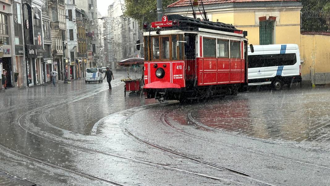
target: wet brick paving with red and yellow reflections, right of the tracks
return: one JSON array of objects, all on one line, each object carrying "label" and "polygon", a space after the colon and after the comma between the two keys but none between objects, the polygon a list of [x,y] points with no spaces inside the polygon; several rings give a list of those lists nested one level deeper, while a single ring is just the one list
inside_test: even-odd
[{"label": "wet brick paving with red and yellow reflections, right of the tracks", "polygon": [[306,89],[242,93],[192,109],[202,124],[264,139],[330,141],[330,90]]}]

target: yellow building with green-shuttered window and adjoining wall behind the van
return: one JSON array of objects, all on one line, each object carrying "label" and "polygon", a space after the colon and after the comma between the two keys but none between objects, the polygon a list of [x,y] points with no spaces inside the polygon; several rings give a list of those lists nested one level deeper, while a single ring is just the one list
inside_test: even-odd
[{"label": "yellow building with green-shuttered window and adjoining wall behind the van", "polygon": [[[193,0],[179,0],[165,14],[193,17]],[[196,17],[233,24],[248,31],[253,45],[297,44],[300,49],[302,78],[313,84],[330,83],[330,32],[301,31],[302,4],[296,0],[203,0],[193,7]]]}]

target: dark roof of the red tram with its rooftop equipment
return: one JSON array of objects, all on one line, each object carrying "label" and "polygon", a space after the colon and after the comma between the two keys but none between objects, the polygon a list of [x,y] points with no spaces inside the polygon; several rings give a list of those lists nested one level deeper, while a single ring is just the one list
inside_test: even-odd
[{"label": "dark roof of the red tram with its rooftop equipment", "polygon": [[181,15],[168,15],[168,20],[178,20],[178,26],[163,27],[163,30],[184,30],[184,31],[199,31],[199,28],[225,31],[225,32],[239,32],[232,24],[225,24],[222,22],[202,21]]}]

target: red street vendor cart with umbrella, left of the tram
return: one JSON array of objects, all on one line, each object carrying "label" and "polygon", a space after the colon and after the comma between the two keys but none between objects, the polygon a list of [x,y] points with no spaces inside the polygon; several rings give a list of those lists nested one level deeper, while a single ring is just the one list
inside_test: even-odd
[{"label": "red street vendor cart with umbrella, left of the tram", "polygon": [[[139,57],[134,57],[134,58],[129,58],[129,59],[124,59],[119,61],[120,66],[125,66],[125,67],[133,67],[134,71],[134,79],[131,79],[129,77],[129,71],[127,70],[127,78],[122,79],[121,81],[125,82],[124,86],[124,96],[126,96],[126,92],[130,92],[129,95],[140,95],[141,93],[141,84],[143,83],[143,79],[137,78],[135,71],[136,68],[139,68],[139,65],[144,64],[144,58],[139,58]],[[129,69],[129,68],[127,68]]]}]

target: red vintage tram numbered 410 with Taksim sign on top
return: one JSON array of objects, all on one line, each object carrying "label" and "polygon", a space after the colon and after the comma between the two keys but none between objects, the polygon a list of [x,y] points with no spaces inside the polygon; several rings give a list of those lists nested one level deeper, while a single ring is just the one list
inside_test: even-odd
[{"label": "red vintage tram numbered 410 with Taksim sign on top", "polygon": [[248,83],[247,32],[180,15],[144,23],[146,98],[236,95]]}]

